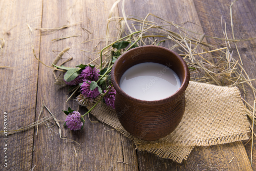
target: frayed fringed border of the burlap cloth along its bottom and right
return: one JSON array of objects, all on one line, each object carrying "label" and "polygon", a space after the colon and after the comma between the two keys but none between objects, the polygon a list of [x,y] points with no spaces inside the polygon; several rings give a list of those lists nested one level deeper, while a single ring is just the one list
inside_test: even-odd
[{"label": "frayed fringed border of the burlap cloth along its bottom and right", "polygon": [[[151,152],[159,157],[163,157],[163,158],[168,158],[168,159],[172,159],[173,161],[176,161],[178,163],[181,163],[183,159],[187,159],[188,155],[190,154],[190,152],[192,151],[192,149],[194,148],[194,146],[209,146],[209,145],[216,145],[216,144],[224,144],[224,143],[231,143],[231,142],[235,142],[235,141],[241,141],[241,140],[247,140],[249,139],[247,133],[250,132],[250,127],[249,127],[249,123],[247,120],[247,115],[245,112],[245,108],[243,105],[243,101],[241,99],[241,94],[240,91],[237,87],[232,87],[233,88],[233,93],[236,95],[236,100],[239,103],[239,107],[238,110],[241,112],[241,117],[242,117],[242,125],[244,127],[244,132],[243,133],[238,133],[235,135],[226,135],[226,136],[222,136],[222,137],[212,137],[212,138],[208,138],[208,139],[200,139],[200,140],[188,140],[188,141],[175,141],[173,140],[172,142],[161,142],[161,143],[154,143],[154,142],[148,142],[148,141],[143,141],[140,140],[138,138],[135,138],[134,136],[132,136],[130,133],[128,133],[126,130],[124,130],[124,128],[121,126],[120,123],[116,123],[111,121],[111,120],[106,120],[104,118],[104,116],[94,113],[94,111],[92,110],[92,115],[94,115],[98,120],[100,120],[101,122],[104,122],[110,126],[112,126],[114,129],[116,129],[118,132],[122,133],[125,137],[131,139],[134,141],[136,148],[138,150],[146,150],[148,152]],[[100,95],[101,96],[101,95]],[[100,99],[100,96],[98,96],[94,102],[97,102]],[[101,104],[98,104],[101,105]],[[110,108],[109,106],[106,106],[105,104],[103,104],[105,108]],[[88,106],[87,108],[90,109],[92,106]],[[116,125],[120,125],[120,126],[116,126]],[[181,157],[180,155],[176,155],[173,152],[168,151],[168,149],[166,149],[166,147],[169,147],[170,149],[172,147],[184,147],[186,148],[187,153]]]}]

